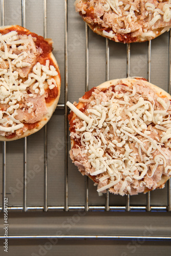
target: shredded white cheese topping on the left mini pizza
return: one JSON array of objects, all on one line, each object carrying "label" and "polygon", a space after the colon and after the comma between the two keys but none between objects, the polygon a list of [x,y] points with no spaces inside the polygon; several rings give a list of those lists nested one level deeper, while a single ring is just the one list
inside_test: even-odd
[{"label": "shredded white cheese topping on the left mini pizza", "polygon": [[[50,61],[46,65],[32,63],[38,54],[34,38],[29,35],[18,35],[17,31],[0,34],[0,134],[14,133],[24,127],[17,119],[17,110],[30,90],[30,97],[45,95],[45,82],[49,89],[56,87],[53,76],[58,73]],[[28,71],[27,69],[30,69]],[[28,72],[28,74],[27,74]],[[32,112],[33,103],[26,103],[29,113]],[[25,108],[22,108],[25,112]]]}]

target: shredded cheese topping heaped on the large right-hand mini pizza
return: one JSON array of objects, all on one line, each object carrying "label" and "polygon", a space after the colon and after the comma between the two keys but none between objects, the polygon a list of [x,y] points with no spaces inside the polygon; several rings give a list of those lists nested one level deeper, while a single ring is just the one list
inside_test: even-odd
[{"label": "shredded cheese topping heaped on the large right-hand mini pizza", "polygon": [[[96,89],[91,101],[87,100],[84,113],[67,102],[79,117],[71,138],[80,138],[81,154],[83,158],[87,156],[90,164],[88,175],[98,176],[98,192],[117,185],[120,195],[131,193],[136,181],[143,181],[140,187],[144,189],[160,168],[165,173],[169,169],[166,162],[170,164],[171,160],[170,102],[161,97],[149,101],[149,88],[145,91],[144,99],[136,86],[118,84],[115,92],[112,87],[106,92]],[[152,182],[153,186],[157,183]]]}]

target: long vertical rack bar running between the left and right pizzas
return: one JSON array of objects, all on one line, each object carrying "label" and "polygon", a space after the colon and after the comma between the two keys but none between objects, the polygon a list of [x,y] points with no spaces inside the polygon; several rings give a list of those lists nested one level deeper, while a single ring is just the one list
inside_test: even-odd
[{"label": "long vertical rack bar running between the left and right pizzas", "polygon": [[65,210],[68,211],[68,0],[65,0]]}]

